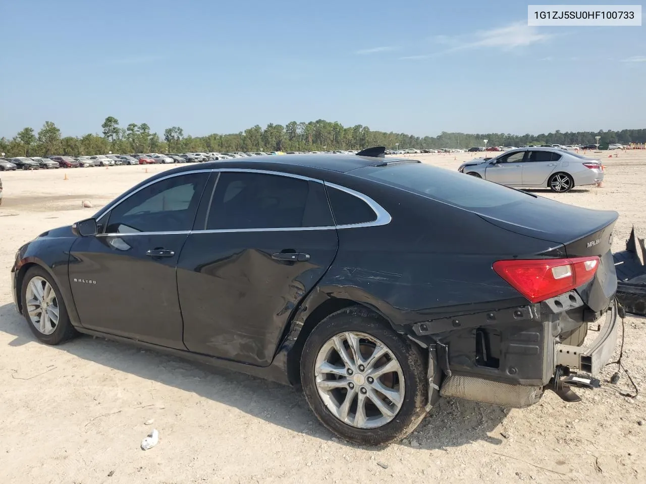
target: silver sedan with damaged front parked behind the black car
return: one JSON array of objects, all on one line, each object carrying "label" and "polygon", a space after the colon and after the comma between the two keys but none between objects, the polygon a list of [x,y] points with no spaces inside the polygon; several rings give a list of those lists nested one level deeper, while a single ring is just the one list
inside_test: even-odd
[{"label": "silver sedan with damaged front parked behind the black car", "polygon": [[547,187],[561,193],[603,180],[599,159],[557,148],[510,150],[494,158],[467,161],[458,171],[508,187]]}]

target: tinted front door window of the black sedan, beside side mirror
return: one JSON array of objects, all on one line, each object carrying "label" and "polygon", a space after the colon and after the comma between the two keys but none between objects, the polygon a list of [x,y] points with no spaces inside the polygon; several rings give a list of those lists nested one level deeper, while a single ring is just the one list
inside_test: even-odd
[{"label": "tinted front door window of the black sedan, beside side mirror", "polygon": [[142,188],[111,210],[105,232],[191,230],[207,177],[190,173]]}]

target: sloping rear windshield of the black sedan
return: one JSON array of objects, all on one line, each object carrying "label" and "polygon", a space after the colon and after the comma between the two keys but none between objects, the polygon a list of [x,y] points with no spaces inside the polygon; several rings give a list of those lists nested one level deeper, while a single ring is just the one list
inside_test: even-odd
[{"label": "sloping rear windshield of the black sedan", "polygon": [[466,209],[500,207],[532,197],[492,181],[424,163],[366,166],[351,174]]}]

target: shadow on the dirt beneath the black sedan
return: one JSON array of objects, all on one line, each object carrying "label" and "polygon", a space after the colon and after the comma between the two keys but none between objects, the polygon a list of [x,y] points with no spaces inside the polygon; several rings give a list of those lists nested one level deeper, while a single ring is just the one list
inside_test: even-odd
[{"label": "shadow on the dirt beneath the black sedan", "polygon": [[[14,336],[8,343],[10,347],[27,343],[43,344],[30,332],[25,319],[16,313],[12,304],[0,306],[0,331]],[[322,440],[334,438],[318,423],[299,388],[92,336],[81,335],[50,348],[218,401],[294,432]],[[503,407],[460,399],[440,399],[404,443],[421,449],[459,447],[479,440],[499,444],[502,439],[491,437],[489,433],[505,419],[508,412]],[[335,440],[349,447],[368,450],[383,448],[362,447]]]}]

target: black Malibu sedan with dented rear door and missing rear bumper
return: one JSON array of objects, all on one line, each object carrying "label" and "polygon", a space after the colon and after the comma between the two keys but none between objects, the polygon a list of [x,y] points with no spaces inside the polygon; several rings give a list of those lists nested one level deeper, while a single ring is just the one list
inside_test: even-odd
[{"label": "black Malibu sedan with dented rear door and missing rear bumper", "polygon": [[383,153],[156,174],[19,248],[16,308],[51,345],[81,332],[300,383],[370,445],[439,396],[576,399],[616,345],[616,212]]}]

